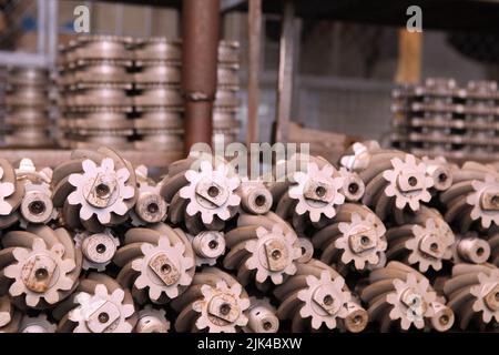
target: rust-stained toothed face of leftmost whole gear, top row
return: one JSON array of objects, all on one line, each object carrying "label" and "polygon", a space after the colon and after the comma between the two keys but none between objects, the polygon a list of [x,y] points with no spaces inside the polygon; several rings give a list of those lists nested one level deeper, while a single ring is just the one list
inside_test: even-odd
[{"label": "rust-stained toothed face of leftmost whole gear, top row", "polygon": [[[132,199],[135,194],[134,186],[125,184],[130,178],[129,170],[114,170],[114,161],[110,158],[104,158],[100,165],[86,159],[82,162],[82,169],[83,173],[69,176],[69,183],[77,190],[68,196],[71,205],[81,205],[80,219],[89,221],[95,214],[100,223],[108,224],[111,213],[124,215],[129,209],[123,200]],[[98,189],[100,182],[106,186],[101,192]],[[88,201],[91,194],[93,203]]]}]

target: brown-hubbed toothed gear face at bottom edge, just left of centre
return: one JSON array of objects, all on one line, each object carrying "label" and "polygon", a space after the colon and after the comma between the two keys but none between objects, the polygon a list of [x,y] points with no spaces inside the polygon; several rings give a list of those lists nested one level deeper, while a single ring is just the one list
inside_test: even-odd
[{"label": "brown-hubbed toothed gear face at bottom edge, just left of centre", "polygon": [[197,329],[210,333],[235,333],[246,326],[248,320],[245,311],[249,307],[249,300],[242,296],[243,287],[236,283],[228,286],[223,280],[216,286],[203,285],[202,300],[193,303],[192,307],[200,313],[196,320]]}]

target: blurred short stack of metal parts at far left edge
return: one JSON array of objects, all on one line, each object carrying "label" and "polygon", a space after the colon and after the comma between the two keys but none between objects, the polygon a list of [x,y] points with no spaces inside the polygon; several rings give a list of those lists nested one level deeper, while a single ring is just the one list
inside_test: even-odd
[{"label": "blurred short stack of metal parts at far left edge", "polygon": [[51,78],[42,68],[11,68],[7,74],[6,144],[17,148],[50,146]]}]

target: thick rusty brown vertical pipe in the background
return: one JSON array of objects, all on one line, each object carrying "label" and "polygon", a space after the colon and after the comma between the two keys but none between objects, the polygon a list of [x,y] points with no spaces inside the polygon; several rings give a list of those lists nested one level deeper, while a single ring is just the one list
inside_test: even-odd
[{"label": "thick rusty brown vertical pipe in the background", "polygon": [[212,143],[218,38],[220,0],[184,0],[182,91],[186,152],[194,143]]}]

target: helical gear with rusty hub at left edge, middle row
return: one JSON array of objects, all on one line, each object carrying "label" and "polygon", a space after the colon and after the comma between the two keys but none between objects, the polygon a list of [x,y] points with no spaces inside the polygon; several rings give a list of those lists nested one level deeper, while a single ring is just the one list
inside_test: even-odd
[{"label": "helical gear with rusty hub at left edge, middle row", "polygon": [[21,304],[43,310],[68,297],[78,284],[81,254],[64,229],[29,226],[2,236],[1,282]]}]

